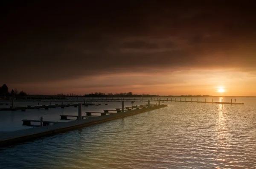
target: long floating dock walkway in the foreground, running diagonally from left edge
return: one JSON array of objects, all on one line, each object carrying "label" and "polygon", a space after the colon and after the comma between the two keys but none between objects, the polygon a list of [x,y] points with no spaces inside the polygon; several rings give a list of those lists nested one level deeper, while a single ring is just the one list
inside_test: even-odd
[{"label": "long floating dock walkway in the foreground, running diagonally from left edge", "polygon": [[128,110],[125,112],[111,113],[110,115],[99,115],[98,117],[86,118],[82,120],[74,120],[69,122],[57,123],[53,125],[47,125],[43,127],[30,128],[25,130],[17,130],[13,132],[3,132],[0,135],[0,147],[8,146],[23,141],[29,141],[42,136],[52,135],[59,132],[65,132],[67,130],[73,130],[80,127],[87,127],[93,124],[110,121],[116,118],[122,118],[129,115],[135,115],[138,113],[147,112],[150,110],[156,110],[162,107],[166,107],[167,104],[154,105],[150,107],[144,107],[141,109]]}]

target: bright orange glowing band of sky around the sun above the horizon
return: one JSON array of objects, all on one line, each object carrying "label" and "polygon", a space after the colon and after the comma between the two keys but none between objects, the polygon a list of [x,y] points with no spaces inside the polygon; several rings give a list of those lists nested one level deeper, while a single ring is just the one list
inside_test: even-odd
[{"label": "bright orange glowing band of sky around the sun above the horizon", "polygon": [[[76,79],[41,83],[13,84],[10,89],[30,94],[95,92],[155,94],[155,95],[212,95],[256,96],[256,73],[239,70],[177,70],[147,73],[112,73],[81,76]],[[221,86],[220,86],[221,84]],[[228,90],[227,90],[228,89]]]}]

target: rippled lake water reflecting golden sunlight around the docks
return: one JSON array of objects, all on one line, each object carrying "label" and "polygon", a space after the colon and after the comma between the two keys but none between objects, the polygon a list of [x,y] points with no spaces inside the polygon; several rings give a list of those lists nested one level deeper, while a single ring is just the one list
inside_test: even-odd
[{"label": "rippled lake water reflecting golden sunlight around the docks", "polygon": [[[168,107],[158,110],[1,148],[0,168],[254,169],[256,98],[243,98],[243,102],[244,105],[168,102]],[[83,110],[121,107],[120,102],[108,104]],[[131,102],[125,104],[131,106]],[[0,113],[0,132],[7,132],[26,128],[21,119],[43,116],[44,120],[60,121],[61,114],[77,115],[77,108]]]}]

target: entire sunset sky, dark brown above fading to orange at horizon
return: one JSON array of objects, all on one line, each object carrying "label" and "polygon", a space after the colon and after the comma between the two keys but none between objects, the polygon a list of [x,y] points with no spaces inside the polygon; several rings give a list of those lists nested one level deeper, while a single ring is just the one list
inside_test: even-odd
[{"label": "entire sunset sky, dark brown above fading to orange at horizon", "polygon": [[255,0],[1,2],[0,85],[256,96]]}]

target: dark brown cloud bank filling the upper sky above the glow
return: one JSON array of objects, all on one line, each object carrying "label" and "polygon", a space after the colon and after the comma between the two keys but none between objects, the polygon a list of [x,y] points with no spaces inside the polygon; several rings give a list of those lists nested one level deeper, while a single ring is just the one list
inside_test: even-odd
[{"label": "dark brown cloud bank filling the upper sky above the glow", "polygon": [[186,68],[254,69],[255,1],[6,2],[2,83]]}]

